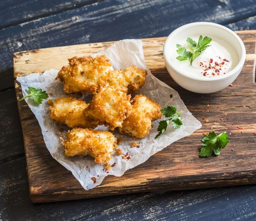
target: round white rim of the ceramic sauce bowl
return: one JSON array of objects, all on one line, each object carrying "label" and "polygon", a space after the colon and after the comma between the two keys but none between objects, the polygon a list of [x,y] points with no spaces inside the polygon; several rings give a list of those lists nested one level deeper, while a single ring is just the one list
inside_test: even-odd
[{"label": "round white rim of the ceramic sauce bowl", "polygon": [[[169,41],[171,40],[171,38],[179,33],[180,31],[188,28],[188,27],[193,27],[193,26],[201,26],[201,25],[208,25],[208,26],[215,26],[219,29],[224,29],[225,31],[229,32],[231,35],[233,35],[238,43],[239,43],[239,46],[241,48],[241,51],[242,51],[242,54],[241,54],[241,59],[239,60],[238,64],[231,70],[229,71],[228,73],[229,74],[226,74],[226,75],[221,75],[221,76],[218,76],[217,78],[205,78],[205,79],[198,79],[198,78],[195,78],[193,76],[188,76],[182,72],[180,72],[175,65],[172,65],[171,61],[170,61],[170,57],[169,57],[169,54],[168,52],[170,51],[170,49],[167,47]],[[231,45],[232,46],[232,45]],[[166,56],[168,54],[168,56]],[[165,44],[163,45],[163,58],[166,62],[166,65],[170,66],[174,71],[176,71],[178,74],[186,77],[186,78],[189,78],[189,79],[193,79],[193,80],[197,80],[197,81],[220,81],[220,80],[223,80],[223,79],[227,79],[227,78],[230,78],[232,75],[234,75],[235,73],[237,73],[238,71],[240,71],[240,69],[243,67],[244,65],[244,62],[245,62],[245,56],[246,56],[246,50],[245,50],[245,46],[243,44],[243,41],[241,40],[241,38],[236,34],[234,33],[232,30],[230,30],[229,28],[225,27],[225,26],[222,26],[221,24],[217,24],[217,23],[213,23],[213,22],[193,22],[193,23],[188,23],[188,24],[185,24],[177,29],[175,29],[174,31],[172,31],[167,39],[165,40]]]}]

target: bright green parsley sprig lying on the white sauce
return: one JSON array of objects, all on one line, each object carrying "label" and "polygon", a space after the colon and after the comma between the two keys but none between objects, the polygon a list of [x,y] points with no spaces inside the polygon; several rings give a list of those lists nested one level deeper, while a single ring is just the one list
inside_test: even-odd
[{"label": "bright green parsley sprig lying on the white sauce", "polygon": [[177,53],[179,56],[176,57],[179,61],[186,61],[188,60],[190,62],[190,65],[195,60],[196,57],[198,57],[200,54],[204,52],[205,49],[210,47],[209,43],[212,41],[210,37],[205,36],[203,38],[202,35],[200,35],[198,39],[198,43],[196,43],[195,40],[191,38],[187,38],[187,44],[192,49],[191,51],[186,50],[185,47],[182,47],[181,45],[177,44]]}]

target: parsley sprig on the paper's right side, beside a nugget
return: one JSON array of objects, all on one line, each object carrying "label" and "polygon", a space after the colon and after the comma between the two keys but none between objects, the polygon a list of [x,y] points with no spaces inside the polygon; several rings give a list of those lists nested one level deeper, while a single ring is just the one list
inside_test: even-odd
[{"label": "parsley sprig on the paper's right side, beside a nugget", "polygon": [[168,120],[161,120],[159,122],[157,131],[159,133],[156,135],[155,139],[159,137],[164,131],[167,130],[169,123],[171,122],[174,129],[179,128],[183,123],[181,121],[181,116],[179,113],[176,112],[176,107],[167,106],[161,109],[161,113],[166,117],[170,117]]}]

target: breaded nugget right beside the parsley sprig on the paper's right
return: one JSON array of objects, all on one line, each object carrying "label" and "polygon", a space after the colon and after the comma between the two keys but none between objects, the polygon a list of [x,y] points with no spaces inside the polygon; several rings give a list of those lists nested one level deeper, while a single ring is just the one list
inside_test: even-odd
[{"label": "breaded nugget right beside the parsley sprig on the paper's right", "polygon": [[151,130],[151,122],[162,117],[161,106],[145,95],[136,95],[131,100],[131,105],[131,114],[118,130],[134,139],[145,137]]}]

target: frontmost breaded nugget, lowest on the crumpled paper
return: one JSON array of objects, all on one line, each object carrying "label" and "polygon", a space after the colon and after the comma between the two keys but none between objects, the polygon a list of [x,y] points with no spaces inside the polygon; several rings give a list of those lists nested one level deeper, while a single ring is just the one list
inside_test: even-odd
[{"label": "frontmost breaded nugget, lowest on the crumpled paper", "polygon": [[68,131],[67,138],[62,142],[66,157],[85,156],[89,154],[95,163],[106,163],[115,151],[116,138],[108,131],[74,128]]}]

